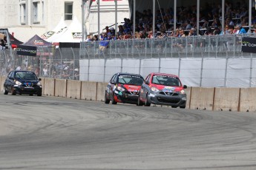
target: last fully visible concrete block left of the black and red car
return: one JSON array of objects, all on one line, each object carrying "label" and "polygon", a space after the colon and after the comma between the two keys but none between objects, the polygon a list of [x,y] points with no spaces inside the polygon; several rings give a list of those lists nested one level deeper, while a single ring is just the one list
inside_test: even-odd
[{"label": "last fully visible concrete block left of the black and red car", "polygon": [[87,101],[96,101],[97,83],[93,81],[82,81],[81,99]]}]

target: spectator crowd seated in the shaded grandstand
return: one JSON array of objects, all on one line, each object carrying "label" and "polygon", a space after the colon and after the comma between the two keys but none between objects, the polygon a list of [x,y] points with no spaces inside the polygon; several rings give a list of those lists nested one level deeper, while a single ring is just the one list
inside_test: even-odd
[{"label": "spectator crowd seated in the shaded grandstand", "polygon": [[[150,9],[142,12],[136,11],[135,30],[130,18],[114,27],[105,27],[100,37],[88,35],[86,41],[125,40],[130,38],[168,38],[197,35],[197,6],[177,7],[177,28],[174,30],[174,10],[171,7],[156,11],[155,34],[153,35],[153,14]],[[246,1],[226,1],[224,23],[222,26],[221,4],[206,2],[200,9],[199,35],[243,34],[248,33],[249,9]],[[252,25],[256,26],[256,10],[252,7]],[[222,31],[224,27],[224,32]],[[247,29],[245,29],[247,27]],[[255,27],[256,28],[256,27]],[[252,33],[256,33],[254,27]],[[102,44],[105,47],[108,44]]]}]

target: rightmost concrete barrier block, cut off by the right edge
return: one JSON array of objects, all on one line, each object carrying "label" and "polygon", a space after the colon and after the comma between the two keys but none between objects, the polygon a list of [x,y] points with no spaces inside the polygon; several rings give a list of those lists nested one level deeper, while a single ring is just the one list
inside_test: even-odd
[{"label": "rightmost concrete barrier block, cut off by the right edge", "polygon": [[256,111],[256,87],[240,89],[240,112]]}]

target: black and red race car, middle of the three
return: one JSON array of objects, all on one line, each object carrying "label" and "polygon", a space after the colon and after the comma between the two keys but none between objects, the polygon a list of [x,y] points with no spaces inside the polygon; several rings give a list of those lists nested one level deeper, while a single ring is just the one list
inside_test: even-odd
[{"label": "black and red race car, middle of the three", "polygon": [[144,79],[141,75],[118,72],[111,78],[105,90],[105,103],[137,104],[138,93]]}]

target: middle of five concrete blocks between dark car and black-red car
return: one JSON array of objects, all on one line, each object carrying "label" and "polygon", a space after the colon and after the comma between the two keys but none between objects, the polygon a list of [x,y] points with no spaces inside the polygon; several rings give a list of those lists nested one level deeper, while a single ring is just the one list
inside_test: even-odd
[{"label": "middle of five concrete blocks between dark car and black-red car", "polygon": [[67,98],[81,99],[81,81],[68,80]]}]

